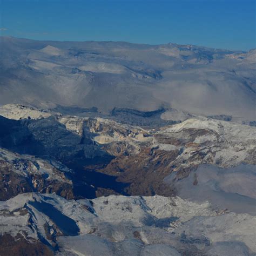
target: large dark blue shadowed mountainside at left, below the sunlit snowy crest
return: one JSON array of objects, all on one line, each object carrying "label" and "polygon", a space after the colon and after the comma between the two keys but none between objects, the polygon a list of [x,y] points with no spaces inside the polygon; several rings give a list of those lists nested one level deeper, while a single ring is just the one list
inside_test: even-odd
[{"label": "large dark blue shadowed mountainside at left, below the sunlit snowy crest", "polygon": [[[10,120],[0,116],[0,146],[22,154],[49,156],[66,163],[74,158],[85,161],[108,154],[92,145],[91,138],[66,129],[55,116],[39,120]],[[90,134],[89,134],[90,136]]]}]

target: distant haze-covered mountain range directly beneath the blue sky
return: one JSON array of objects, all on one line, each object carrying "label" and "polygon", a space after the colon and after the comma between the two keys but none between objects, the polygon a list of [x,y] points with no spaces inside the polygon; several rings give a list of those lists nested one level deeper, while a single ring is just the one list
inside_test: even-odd
[{"label": "distant haze-covered mountain range directly beneath the blue sky", "polygon": [[0,37],[0,57],[2,105],[174,108],[256,119],[255,49]]}]

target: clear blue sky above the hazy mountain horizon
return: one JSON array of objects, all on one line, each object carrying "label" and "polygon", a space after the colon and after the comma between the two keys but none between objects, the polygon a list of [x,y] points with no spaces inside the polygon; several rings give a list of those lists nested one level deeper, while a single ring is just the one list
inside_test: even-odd
[{"label": "clear blue sky above the hazy mountain horizon", "polygon": [[0,0],[0,35],[255,48],[250,0]]}]

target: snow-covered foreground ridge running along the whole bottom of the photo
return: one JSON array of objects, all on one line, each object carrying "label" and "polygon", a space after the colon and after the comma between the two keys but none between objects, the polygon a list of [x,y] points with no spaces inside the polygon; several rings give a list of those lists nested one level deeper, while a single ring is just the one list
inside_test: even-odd
[{"label": "snow-covered foreground ridge running along the whole bottom of the photo", "polygon": [[233,247],[250,255],[255,221],[179,197],[75,201],[25,193],[0,202],[2,235],[42,242],[57,255],[226,255]]}]

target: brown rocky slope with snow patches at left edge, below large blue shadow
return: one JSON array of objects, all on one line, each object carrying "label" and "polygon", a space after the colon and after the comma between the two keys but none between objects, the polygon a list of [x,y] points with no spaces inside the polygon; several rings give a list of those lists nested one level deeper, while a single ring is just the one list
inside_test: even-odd
[{"label": "brown rocky slope with snow patches at left edge, below large blue shadow", "polygon": [[51,164],[0,148],[0,200],[33,191],[56,193],[72,199],[73,184],[65,177],[68,172],[70,170],[60,163]]}]

